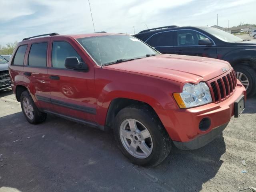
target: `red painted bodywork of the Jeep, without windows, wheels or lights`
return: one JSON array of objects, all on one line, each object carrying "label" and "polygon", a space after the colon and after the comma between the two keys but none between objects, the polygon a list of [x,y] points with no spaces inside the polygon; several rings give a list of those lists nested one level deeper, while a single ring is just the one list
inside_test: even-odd
[{"label": "red painted bodywork of the Jeep, without windows, wheels or lights", "polygon": [[[230,64],[212,58],[166,54],[101,68],[76,41],[76,38],[94,35],[51,36],[20,42],[18,46],[28,44],[28,49],[24,66],[14,66],[11,62],[9,65],[14,93],[17,85],[25,86],[38,108],[96,122],[102,126],[106,123],[112,100],[128,98],[145,102],[155,110],[172,140],[181,142],[190,141],[229,122],[234,115],[234,102],[242,94],[246,99],[245,88],[238,81],[233,94],[221,102],[180,109],[172,96],[173,93],[182,92],[185,83],[210,82],[230,72]],[[101,35],[112,34],[97,34]],[[88,72],[52,68],[51,52],[54,41],[70,43],[88,65]],[[26,66],[30,46],[35,42],[48,42],[46,68]],[[226,68],[227,72],[222,72],[222,68]],[[24,76],[24,72],[31,72],[32,76]],[[60,80],[50,79],[51,75],[59,76]],[[72,90],[71,95],[64,91],[67,88]],[[92,108],[96,110],[96,114],[38,101],[36,95],[69,105]],[[212,124],[210,129],[202,132],[198,125],[204,117],[210,118]]]}]

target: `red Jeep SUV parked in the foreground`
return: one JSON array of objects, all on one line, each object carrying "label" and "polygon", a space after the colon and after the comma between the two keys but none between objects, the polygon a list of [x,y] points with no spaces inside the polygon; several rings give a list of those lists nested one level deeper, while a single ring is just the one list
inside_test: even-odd
[{"label": "red Jeep SUV parked in the foreground", "polygon": [[9,64],[26,120],[112,128],[135,164],[156,166],[172,144],[200,148],[244,110],[246,90],[226,61],[160,54],[126,34],[46,35],[19,42]]}]

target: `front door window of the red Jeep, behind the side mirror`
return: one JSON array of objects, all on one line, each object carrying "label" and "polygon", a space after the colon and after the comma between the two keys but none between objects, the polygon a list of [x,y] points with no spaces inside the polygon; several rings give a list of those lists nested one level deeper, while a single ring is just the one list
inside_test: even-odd
[{"label": "front door window of the red Jeep, behind the side mirror", "polygon": [[82,58],[76,50],[68,43],[64,41],[55,41],[52,43],[52,67],[65,68],[65,59],[67,57],[77,57],[79,62],[82,62]]}]

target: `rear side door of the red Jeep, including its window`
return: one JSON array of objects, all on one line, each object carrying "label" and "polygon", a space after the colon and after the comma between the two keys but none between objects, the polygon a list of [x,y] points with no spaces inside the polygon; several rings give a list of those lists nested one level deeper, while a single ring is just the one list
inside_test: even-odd
[{"label": "rear side door of the red Jeep, including its window", "polygon": [[49,38],[35,39],[29,44],[23,74],[24,82],[36,105],[41,109],[52,110],[47,62],[48,40]]}]

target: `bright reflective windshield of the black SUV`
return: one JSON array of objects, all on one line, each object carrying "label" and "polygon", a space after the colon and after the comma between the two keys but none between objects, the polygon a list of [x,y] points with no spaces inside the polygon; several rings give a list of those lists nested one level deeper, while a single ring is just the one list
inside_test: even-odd
[{"label": "bright reflective windshield of the black SUV", "polygon": [[229,43],[234,43],[234,42],[242,42],[243,40],[239,37],[234,36],[233,34],[230,34],[228,32],[225,32],[223,30],[213,28],[213,27],[204,27],[201,28],[202,30],[210,33],[211,35],[215,36],[216,38],[229,42]]}]

